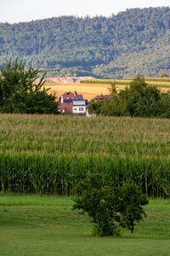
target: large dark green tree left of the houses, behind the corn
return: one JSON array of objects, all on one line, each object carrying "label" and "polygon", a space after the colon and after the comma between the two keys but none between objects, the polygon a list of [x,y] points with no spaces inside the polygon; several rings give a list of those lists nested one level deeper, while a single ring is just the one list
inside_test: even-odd
[{"label": "large dark green tree left of the houses, behind the corn", "polygon": [[[43,87],[44,73],[18,59],[0,67],[0,111],[3,113],[57,113],[56,97]],[[37,82],[39,79],[39,82]]]}]

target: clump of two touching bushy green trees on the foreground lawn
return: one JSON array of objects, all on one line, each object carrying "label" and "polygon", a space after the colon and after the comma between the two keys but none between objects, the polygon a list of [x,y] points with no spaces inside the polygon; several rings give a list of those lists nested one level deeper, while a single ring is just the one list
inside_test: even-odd
[{"label": "clump of two touching bushy green trees on the foreground lawn", "polygon": [[115,187],[100,174],[88,174],[77,185],[77,198],[73,209],[88,212],[94,223],[94,235],[119,235],[119,227],[133,233],[134,224],[143,219],[145,195],[134,185]]}]

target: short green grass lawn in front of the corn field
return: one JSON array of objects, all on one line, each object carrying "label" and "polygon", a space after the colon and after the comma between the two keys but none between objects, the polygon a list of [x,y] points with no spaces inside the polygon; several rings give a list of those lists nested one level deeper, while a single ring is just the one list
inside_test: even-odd
[{"label": "short green grass lawn in front of the corn field", "polygon": [[133,235],[91,236],[86,215],[71,197],[0,195],[0,255],[154,255],[170,251],[170,200],[150,200]]}]

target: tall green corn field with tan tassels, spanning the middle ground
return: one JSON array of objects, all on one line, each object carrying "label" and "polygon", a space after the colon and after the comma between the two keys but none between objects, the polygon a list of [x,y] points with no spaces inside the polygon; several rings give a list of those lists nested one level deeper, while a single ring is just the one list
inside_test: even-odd
[{"label": "tall green corn field with tan tassels, spanning the middle ground", "polygon": [[1,192],[74,195],[89,172],[167,197],[170,120],[0,115]]}]

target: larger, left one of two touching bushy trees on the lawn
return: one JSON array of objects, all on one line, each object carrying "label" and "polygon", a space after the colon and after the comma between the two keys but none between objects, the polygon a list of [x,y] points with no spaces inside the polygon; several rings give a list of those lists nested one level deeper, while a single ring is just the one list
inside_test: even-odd
[{"label": "larger, left one of two touching bushy trees on the lawn", "polygon": [[94,223],[94,235],[118,235],[116,195],[101,175],[89,174],[77,185],[77,195],[73,209],[88,212]]}]

